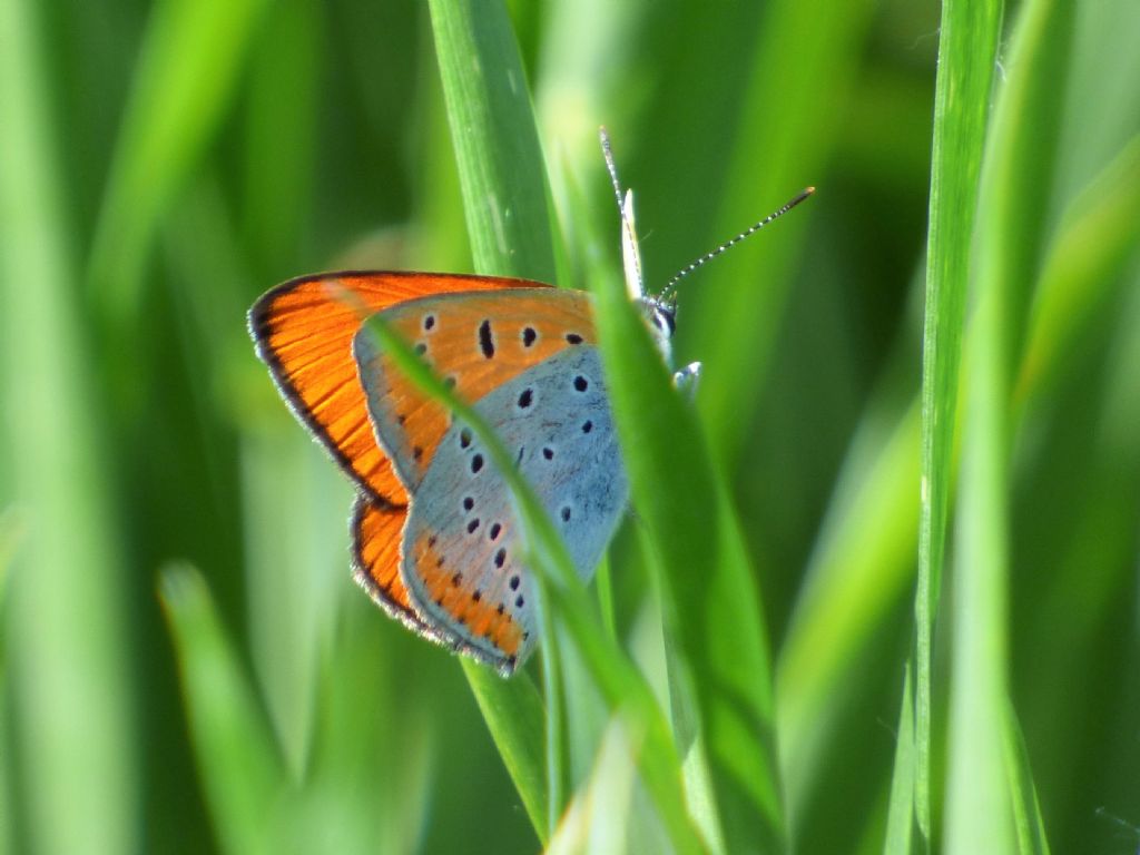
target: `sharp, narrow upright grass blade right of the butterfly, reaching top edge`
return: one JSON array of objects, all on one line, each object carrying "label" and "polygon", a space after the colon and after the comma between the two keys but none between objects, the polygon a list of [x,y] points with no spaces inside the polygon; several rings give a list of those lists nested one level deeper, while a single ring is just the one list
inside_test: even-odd
[{"label": "sharp, narrow upright grass blade right of the butterfly, reaching top edge", "polygon": [[922,472],[915,593],[914,807],[929,841],[930,660],[945,556],[951,455],[978,177],[1001,31],[1000,0],[942,7],[935,85],[922,357]]}]

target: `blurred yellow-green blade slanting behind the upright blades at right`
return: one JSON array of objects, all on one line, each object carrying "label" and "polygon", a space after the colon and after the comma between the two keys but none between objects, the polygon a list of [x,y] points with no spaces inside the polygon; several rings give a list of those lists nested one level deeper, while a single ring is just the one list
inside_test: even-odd
[{"label": "blurred yellow-green blade slanting behind the upright blades at right", "polygon": [[[1089,336],[1091,309],[1119,283],[1138,234],[1140,142],[1133,141],[1077,195],[1051,241],[1018,375],[1016,397],[1024,406],[1048,391],[1066,352]],[[830,723],[839,714],[829,701],[838,681],[911,578],[918,402],[881,438],[865,437],[878,408],[871,406],[852,443],[779,660],[777,730],[792,804],[826,750]]]}]

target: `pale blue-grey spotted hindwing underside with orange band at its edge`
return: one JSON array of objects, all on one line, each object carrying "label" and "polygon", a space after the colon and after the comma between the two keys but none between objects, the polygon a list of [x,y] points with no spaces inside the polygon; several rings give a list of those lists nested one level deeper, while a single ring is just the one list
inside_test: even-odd
[{"label": "pale blue-grey spotted hindwing underside with orange band at its edge", "polygon": [[[588,579],[628,495],[601,360],[565,348],[488,392],[475,409],[494,427]],[[410,601],[453,643],[511,671],[536,638],[532,583],[510,490],[462,424],[439,443],[404,534]]]}]

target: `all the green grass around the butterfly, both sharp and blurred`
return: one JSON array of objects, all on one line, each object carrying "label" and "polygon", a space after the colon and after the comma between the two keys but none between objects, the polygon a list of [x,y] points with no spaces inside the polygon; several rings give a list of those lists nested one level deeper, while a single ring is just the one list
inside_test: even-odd
[{"label": "all the green grass around the butterfly, both sharp and blurred", "polygon": [[[1132,0],[0,0],[0,853],[1134,850],[1138,43]],[[603,123],[650,291],[819,188],[682,282],[695,400]],[[254,358],[336,268],[595,293],[634,510],[584,587],[512,484],[510,682],[351,584]]]}]

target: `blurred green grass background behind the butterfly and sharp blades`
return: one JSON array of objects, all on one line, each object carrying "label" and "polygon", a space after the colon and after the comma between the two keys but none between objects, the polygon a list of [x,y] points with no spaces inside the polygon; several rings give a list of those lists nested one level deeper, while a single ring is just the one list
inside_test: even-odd
[{"label": "blurred green grass background behind the butterfly and sharp blades", "polygon": [[[683,285],[676,350],[705,361],[764,594],[792,837],[880,850],[913,635],[939,9],[510,10],[562,284],[583,284],[583,209],[619,252],[598,124],[651,288],[819,188]],[[1132,0],[1080,5],[1044,81],[1057,133],[1023,153],[1048,174],[1034,287],[1061,291],[1031,300],[1013,359],[1007,626],[1056,852],[1140,845],[1137,44]],[[0,0],[0,847],[249,850],[227,831],[259,809],[237,779],[284,774],[308,793],[299,852],[535,850],[456,661],[352,584],[350,486],[245,331],[303,272],[471,270],[426,6]],[[613,564],[634,636],[645,581]],[[188,677],[214,715],[237,698],[267,728],[203,736],[160,588],[217,643]],[[251,771],[259,740],[280,768]]]}]

